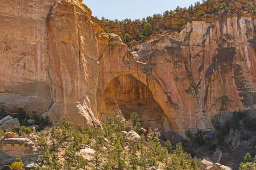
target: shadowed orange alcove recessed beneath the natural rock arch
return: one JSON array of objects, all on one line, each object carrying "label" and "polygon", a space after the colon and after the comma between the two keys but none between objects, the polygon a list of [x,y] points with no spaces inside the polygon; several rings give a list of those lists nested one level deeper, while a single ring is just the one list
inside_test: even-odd
[{"label": "shadowed orange alcove recessed beneath the natural rock arch", "polygon": [[99,119],[106,122],[109,116],[115,117],[120,111],[126,120],[131,113],[138,113],[142,124],[157,127],[160,132],[172,129],[151,90],[131,74],[118,75],[108,84],[102,96]]}]

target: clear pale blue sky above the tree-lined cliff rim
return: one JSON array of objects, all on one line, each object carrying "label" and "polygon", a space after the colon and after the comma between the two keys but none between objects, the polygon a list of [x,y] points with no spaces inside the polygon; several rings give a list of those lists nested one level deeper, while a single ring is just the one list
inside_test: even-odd
[{"label": "clear pale blue sky above the tree-lined cliff rim", "polygon": [[[105,17],[110,20],[125,18],[142,19],[153,14],[163,14],[164,11],[177,6],[189,7],[197,0],[83,0],[92,11],[93,16]],[[200,0],[201,1],[201,0]]]}]

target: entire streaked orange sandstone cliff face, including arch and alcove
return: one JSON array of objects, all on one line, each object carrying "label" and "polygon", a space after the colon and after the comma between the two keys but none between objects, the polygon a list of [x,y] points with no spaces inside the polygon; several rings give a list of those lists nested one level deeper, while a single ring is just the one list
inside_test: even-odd
[{"label": "entire streaked orange sandstone cliff face, including arch and alcove", "polygon": [[0,103],[7,112],[23,108],[53,122],[66,116],[88,128],[136,111],[152,128],[184,135],[256,105],[252,14],[200,17],[178,40],[160,34],[131,52],[78,0],[0,6]]}]

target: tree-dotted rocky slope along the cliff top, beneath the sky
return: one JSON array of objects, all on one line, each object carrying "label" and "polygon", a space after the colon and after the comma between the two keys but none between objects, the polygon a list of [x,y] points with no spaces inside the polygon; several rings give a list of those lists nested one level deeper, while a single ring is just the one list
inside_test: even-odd
[{"label": "tree-dotted rocky slope along the cliff top, beneath the sky", "polygon": [[[143,18],[142,20],[131,20],[131,19],[124,19],[122,21],[119,21],[117,19],[115,20],[109,20],[106,19],[105,17],[101,18],[101,22],[107,22],[111,23],[112,25],[119,26],[122,28],[122,25],[133,25],[134,28],[137,30],[129,30],[124,29],[121,32],[117,32],[114,30],[114,27],[111,26],[106,26],[104,28],[106,32],[110,33],[115,33],[118,34],[121,38],[125,34],[129,34],[130,36],[133,36],[132,38],[129,38],[129,40],[123,40],[123,42],[128,43],[131,40],[143,40],[145,37],[148,37],[151,34],[156,33],[160,29],[163,30],[170,30],[170,33],[175,37],[177,36],[177,32],[180,32],[181,29],[184,28],[184,25],[188,21],[195,20],[198,17],[203,17],[205,15],[222,15],[222,14],[228,14],[228,13],[233,13],[234,11],[247,11],[249,13],[256,13],[256,7],[255,7],[255,2],[247,2],[247,3],[240,3],[240,5],[233,5],[234,3],[227,0],[224,2],[224,0],[203,0],[203,3],[201,4],[199,1],[197,1],[194,5],[190,5],[189,8],[180,8],[177,6],[174,10],[170,11],[164,11],[163,14],[154,14],[153,16],[148,16]],[[242,8],[241,8],[242,7]],[[93,17],[99,25],[101,25],[99,22],[97,22],[98,18]],[[160,23],[160,24],[157,24]],[[148,27],[148,24],[151,26],[151,33],[148,34],[148,28],[145,29],[145,27]],[[170,26],[171,24],[171,26]],[[159,26],[160,25],[160,26]],[[137,36],[137,31],[143,36]]]}]

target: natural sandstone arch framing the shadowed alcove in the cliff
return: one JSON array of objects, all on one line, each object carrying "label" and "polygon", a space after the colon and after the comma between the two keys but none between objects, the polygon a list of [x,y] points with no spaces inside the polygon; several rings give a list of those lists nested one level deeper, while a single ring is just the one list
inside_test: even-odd
[{"label": "natural sandstone arch framing the shadowed alcove in the cliff", "polygon": [[[108,84],[118,75],[131,74],[137,80],[145,84],[152,92],[155,101],[161,106],[174,130],[180,129],[177,124],[178,116],[172,110],[175,110],[175,105],[168,94],[163,90],[162,85],[158,80],[147,70],[150,66],[137,62],[134,59],[131,51],[127,50],[127,46],[121,42],[121,39],[115,34],[111,34],[108,46],[102,52],[99,58],[99,80],[97,92],[97,108],[98,115],[106,113],[107,108],[102,104],[102,96]],[[105,111],[104,111],[105,110]],[[106,121],[106,118],[102,118]]]}]

